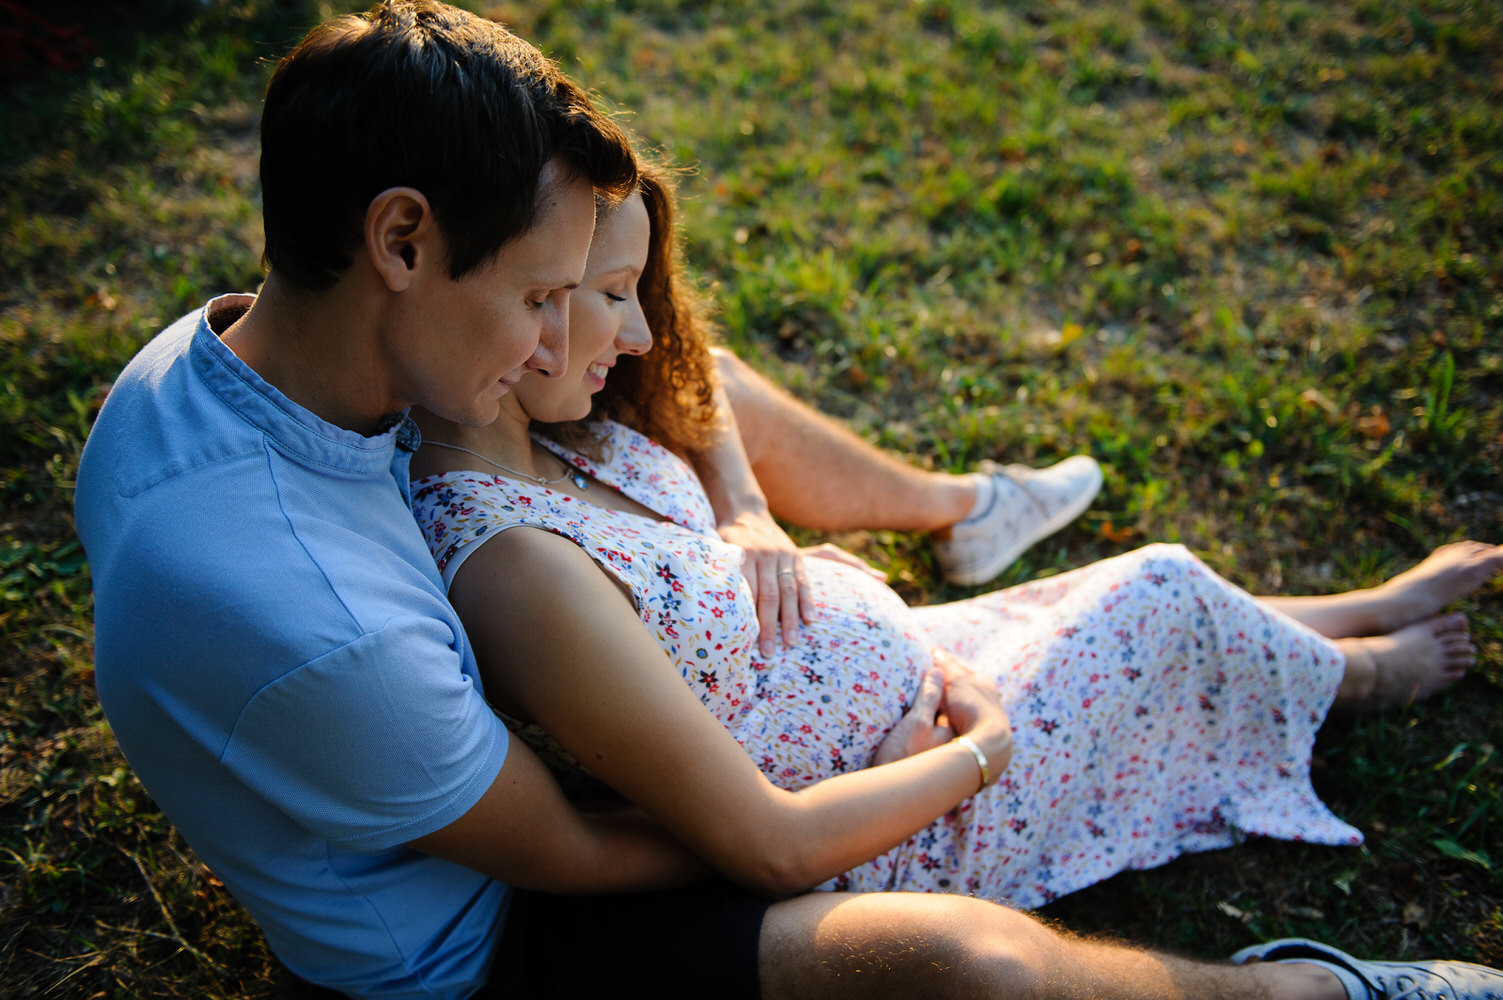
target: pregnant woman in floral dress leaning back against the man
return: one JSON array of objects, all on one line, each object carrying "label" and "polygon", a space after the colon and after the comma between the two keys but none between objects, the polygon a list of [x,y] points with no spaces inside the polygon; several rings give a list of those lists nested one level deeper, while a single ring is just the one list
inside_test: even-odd
[{"label": "pregnant woman in floral dress leaning back against the man", "polygon": [[[1465,620],[1437,612],[1503,547],[1260,602],[1150,546],[920,609],[824,547],[806,562],[818,620],[764,656],[739,550],[673,454],[703,445],[715,409],[672,235],[649,170],[597,226],[568,371],[525,379],[490,427],[419,415],[413,510],[487,696],[529,740],[774,893],[1033,907],[1247,833],[1360,841],[1311,789],[1314,731],[1333,701],[1461,677]],[[592,406],[649,436],[579,423]]]}]

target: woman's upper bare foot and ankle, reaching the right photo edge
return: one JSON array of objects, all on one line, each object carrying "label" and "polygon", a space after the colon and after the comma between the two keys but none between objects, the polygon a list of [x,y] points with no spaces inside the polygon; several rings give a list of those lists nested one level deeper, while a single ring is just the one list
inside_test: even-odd
[{"label": "woman's upper bare foot and ankle, reaching the right photo edge", "polygon": [[1503,573],[1503,546],[1453,541],[1386,583],[1326,597],[1264,597],[1266,603],[1332,639],[1387,636],[1440,614]]}]

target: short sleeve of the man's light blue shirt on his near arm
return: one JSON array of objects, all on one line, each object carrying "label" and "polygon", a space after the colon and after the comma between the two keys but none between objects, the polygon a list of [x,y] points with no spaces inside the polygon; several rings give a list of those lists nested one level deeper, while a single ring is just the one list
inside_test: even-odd
[{"label": "short sleeve of the man's light blue shirt on his near arm", "polygon": [[352,850],[448,826],[490,788],[508,744],[449,641],[443,623],[410,618],[304,663],[246,704],[224,764]]}]

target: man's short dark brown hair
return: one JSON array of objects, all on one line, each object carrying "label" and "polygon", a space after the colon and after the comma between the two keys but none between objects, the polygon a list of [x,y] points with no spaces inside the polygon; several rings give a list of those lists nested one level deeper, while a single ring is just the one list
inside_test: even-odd
[{"label": "man's short dark brown hair", "polygon": [[371,198],[410,186],[433,208],[449,277],[464,277],[532,229],[555,158],[609,197],[636,183],[621,128],[502,26],[436,0],[337,18],[266,87],[265,263],[307,290],[329,287]]}]

